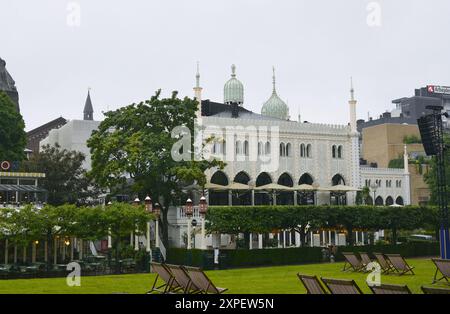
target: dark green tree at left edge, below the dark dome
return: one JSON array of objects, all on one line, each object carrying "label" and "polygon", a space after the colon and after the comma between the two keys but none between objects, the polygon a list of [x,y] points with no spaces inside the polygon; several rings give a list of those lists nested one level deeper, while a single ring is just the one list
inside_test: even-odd
[{"label": "dark green tree at left edge, below the dark dome", "polygon": [[0,91],[0,161],[22,161],[27,144],[25,123],[11,98]]}]

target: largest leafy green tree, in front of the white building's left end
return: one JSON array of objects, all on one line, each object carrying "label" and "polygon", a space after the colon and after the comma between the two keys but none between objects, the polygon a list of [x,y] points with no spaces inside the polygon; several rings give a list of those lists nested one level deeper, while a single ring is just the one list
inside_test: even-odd
[{"label": "largest leafy green tree, in front of the white building's left end", "polygon": [[[88,140],[88,146],[92,154],[90,174],[97,183],[112,191],[131,184],[132,191],[141,199],[150,194],[153,202],[161,204],[161,229],[167,245],[169,206],[184,204],[182,187],[187,182],[204,186],[205,170],[221,163],[193,158],[192,137],[198,102],[180,99],[176,92],[170,98],[161,99],[160,93],[138,104],[107,112]],[[172,137],[172,131],[181,126],[189,129],[187,134],[191,135],[191,146],[187,152],[183,151],[191,160],[172,158],[173,147],[180,140]]]}]

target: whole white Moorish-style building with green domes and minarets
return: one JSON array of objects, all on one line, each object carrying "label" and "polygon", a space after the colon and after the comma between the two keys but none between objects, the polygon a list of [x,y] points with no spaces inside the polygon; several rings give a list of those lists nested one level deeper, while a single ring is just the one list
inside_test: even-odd
[{"label": "whole white Moorish-style building with green domes and minarets", "polygon": [[[291,121],[288,105],[277,94],[275,70],[272,80],[272,94],[259,114],[245,108],[244,84],[237,78],[235,65],[224,86],[223,102],[202,98],[197,71],[194,91],[201,104],[198,123],[205,129],[204,138],[214,137],[207,152],[211,158],[226,163],[223,170],[206,172],[209,205],[352,205],[357,191],[364,186],[371,187],[370,201],[375,198],[378,205],[410,203],[407,169],[360,166],[353,84],[347,107],[349,124],[331,125]],[[193,195],[194,203],[200,194],[201,191]],[[174,209],[168,218],[173,226],[172,245],[183,246],[187,230],[183,208]],[[194,218],[200,220],[198,211]],[[284,246],[300,245],[298,236],[290,232],[278,236]],[[338,244],[337,237],[333,233],[321,234],[319,243],[314,245]],[[359,235],[360,240],[361,237],[362,242],[367,241],[364,234]],[[207,245],[221,247],[230,242],[223,237],[218,241],[213,243],[209,238]],[[252,241],[254,248],[262,245],[260,235],[254,235]],[[195,242],[201,243],[200,239]]]}]

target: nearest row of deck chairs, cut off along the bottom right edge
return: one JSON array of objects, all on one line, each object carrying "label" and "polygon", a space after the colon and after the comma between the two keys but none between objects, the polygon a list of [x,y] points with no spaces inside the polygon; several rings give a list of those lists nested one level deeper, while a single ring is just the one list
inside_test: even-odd
[{"label": "nearest row of deck chairs, cut off along the bottom right edge", "polygon": [[[317,276],[302,274],[297,274],[297,276],[308,294],[363,294],[354,280],[330,278],[320,278],[321,280],[319,280]],[[369,288],[373,294],[411,294],[411,290],[406,285],[369,285]],[[421,289],[425,294],[450,294],[450,289],[425,286],[422,286]]]}]

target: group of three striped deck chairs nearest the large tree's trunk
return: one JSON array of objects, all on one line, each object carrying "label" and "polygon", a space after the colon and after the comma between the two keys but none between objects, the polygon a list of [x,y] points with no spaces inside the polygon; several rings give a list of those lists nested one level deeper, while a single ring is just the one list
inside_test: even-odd
[{"label": "group of three striped deck chairs nearest the large tree's trunk", "polygon": [[[228,289],[220,288],[196,267],[151,263],[157,274],[150,293],[222,294]],[[162,281],[162,284],[158,284]]]}]

